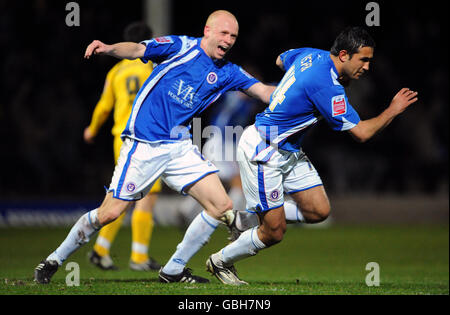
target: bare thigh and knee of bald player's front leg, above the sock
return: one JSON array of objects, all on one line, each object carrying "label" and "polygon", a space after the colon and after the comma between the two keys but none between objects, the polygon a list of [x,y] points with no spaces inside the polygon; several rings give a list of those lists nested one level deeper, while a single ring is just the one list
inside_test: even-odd
[{"label": "bare thigh and knee of bald player's front leg, above the sock", "polygon": [[208,174],[187,187],[186,192],[197,200],[214,218],[220,218],[225,211],[233,208],[217,173]]}]

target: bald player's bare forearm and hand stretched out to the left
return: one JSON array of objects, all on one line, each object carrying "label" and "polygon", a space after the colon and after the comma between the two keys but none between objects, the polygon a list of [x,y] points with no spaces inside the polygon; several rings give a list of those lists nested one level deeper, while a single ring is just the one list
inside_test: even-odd
[{"label": "bald player's bare forearm and hand stretched out to the left", "polygon": [[119,59],[136,59],[144,57],[145,45],[122,42],[113,45],[107,45],[99,40],[94,40],[86,48],[84,58],[89,59],[92,55],[109,55]]}]

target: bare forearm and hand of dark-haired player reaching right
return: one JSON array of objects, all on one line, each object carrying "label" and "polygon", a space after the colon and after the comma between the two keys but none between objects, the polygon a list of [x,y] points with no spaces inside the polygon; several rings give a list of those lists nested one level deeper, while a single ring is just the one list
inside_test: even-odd
[{"label": "bare forearm and hand of dark-haired player reaching right", "polygon": [[408,88],[401,89],[392,99],[391,104],[380,115],[368,120],[361,120],[355,127],[349,130],[353,138],[358,142],[366,142],[377,132],[381,131],[391,121],[411,104],[415,103],[417,92]]}]

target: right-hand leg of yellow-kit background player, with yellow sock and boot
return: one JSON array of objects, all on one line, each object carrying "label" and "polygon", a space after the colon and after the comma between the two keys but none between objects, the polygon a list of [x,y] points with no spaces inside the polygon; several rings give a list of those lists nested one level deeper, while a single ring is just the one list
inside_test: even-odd
[{"label": "right-hand leg of yellow-kit background player, with yellow sock and boot", "polygon": [[161,265],[149,256],[149,246],[153,235],[153,209],[161,192],[161,180],[157,180],[150,192],[136,202],[131,216],[131,258],[130,268],[136,271],[159,270]]}]

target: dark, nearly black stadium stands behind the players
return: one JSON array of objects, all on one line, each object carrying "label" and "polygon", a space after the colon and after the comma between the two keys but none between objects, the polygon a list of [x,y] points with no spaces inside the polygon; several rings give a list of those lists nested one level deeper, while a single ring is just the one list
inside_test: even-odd
[{"label": "dark, nearly black stadium stands behind the players", "polygon": [[[67,2],[0,1],[0,202],[100,201],[110,183],[112,120],[95,145],[82,134],[117,60],[86,61],[83,54],[94,39],[121,41],[123,28],[143,18],[143,2],[77,1],[79,27],[65,24]],[[279,53],[329,49],[345,26],[365,26],[368,2],[174,0],[171,33],[200,37],[207,15],[228,9],[240,23],[228,59],[276,82]],[[419,102],[363,145],[321,123],[304,150],[330,195],[444,196],[448,205],[447,11],[438,1],[376,2],[381,26],[367,27],[377,42],[375,59],[348,90],[350,102],[363,119],[405,86],[419,91]]]}]

